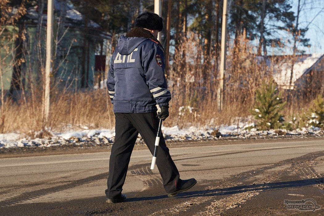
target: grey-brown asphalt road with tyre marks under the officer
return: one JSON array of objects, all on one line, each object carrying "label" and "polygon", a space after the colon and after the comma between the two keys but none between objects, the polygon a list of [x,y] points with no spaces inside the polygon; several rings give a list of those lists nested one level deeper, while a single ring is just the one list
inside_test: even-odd
[{"label": "grey-brown asphalt road with tyre marks under the officer", "polygon": [[2,158],[0,215],[324,215],[323,139],[176,146],[193,188],[168,198],[138,149],[117,204],[105,202],[109,151]]}]

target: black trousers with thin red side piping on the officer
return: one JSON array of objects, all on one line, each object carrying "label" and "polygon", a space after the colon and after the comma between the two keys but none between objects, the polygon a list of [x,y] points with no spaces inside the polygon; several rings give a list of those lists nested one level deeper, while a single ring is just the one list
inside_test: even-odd
[{"label": "black trousers with thin red side piping on the officer", "polygon": [[[109,177],[105,191],[107,198],[110,199],[121,194],[138,133],[141,134],[153,155],[159,124],[156,113],[115,113],[115,119],[116,135],[111,148]],[[181,183],[179,171],[170,156],[162,134],[157,151],[156,166],[163,179],[163,187],[166,192],[176,191],[178,182]]]}]

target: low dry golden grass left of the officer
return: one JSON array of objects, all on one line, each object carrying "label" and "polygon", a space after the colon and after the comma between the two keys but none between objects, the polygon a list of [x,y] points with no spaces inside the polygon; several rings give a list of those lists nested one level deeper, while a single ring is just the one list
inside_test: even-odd
[{"label": "low dry golden grass left of the officer", "polygon": [[112,105],[108,103],[104,90],[75,93],[53,93],[51,98],[50,119],[45,125],[42,118],[41,97],[18,103],[5,102],[1,132],[20,132],[29,135],[39,131],[62,132],[66,129],[77,130],[112,128],[114,116]]}]

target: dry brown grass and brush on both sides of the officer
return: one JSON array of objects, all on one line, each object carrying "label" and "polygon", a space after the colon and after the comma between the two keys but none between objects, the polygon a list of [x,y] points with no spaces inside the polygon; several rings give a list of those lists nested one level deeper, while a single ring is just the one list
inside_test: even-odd
[{"label": "dry brown grass and brush on both sides of the officer", "polygon": [[[197,35],[184,39],[175,51],[170,70],[167,72],[172,93],[170,117],[165,126],[178,125],[219,127],[222,124],[237,124],[249,117],[254,105],[255,91],[263,80],[271,77],[271,69],[257,61],[255,47],[242,35],[229,46],[226,62],[226,82],[223,110],[219,111],[216,92],[219,85],[215,55],[205,56]],[[270,71],[270,72],[269,72]],[[37,131],[63,132],[66,129],[113,128],[114,114],[106,90],[87,92],[65,92],[52,90],[50,120],[44,126],[42,118],[42,91],[25,96],[18,103],[5,101],[2,104],[0,132],[35,134]],[[286,117],[303,112],[313,97],[295,98],[289,93],[284,115]],[[188,108],[189,107],[189,108]],[[182,108],[181,115],[179,109]],[[289,119],[287,119],[289,120]],[[45,136],[43,134],[43,136]]]}]

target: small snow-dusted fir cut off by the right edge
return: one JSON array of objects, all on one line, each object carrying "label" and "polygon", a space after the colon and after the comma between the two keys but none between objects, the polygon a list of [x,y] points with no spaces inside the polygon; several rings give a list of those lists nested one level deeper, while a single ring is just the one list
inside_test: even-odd
[{"label": "small snow-dusted fir cut off by the right edge", "polygon": [[324,129],[324,99],[321,95],[312,101],[307,118],[308,126]]}]

